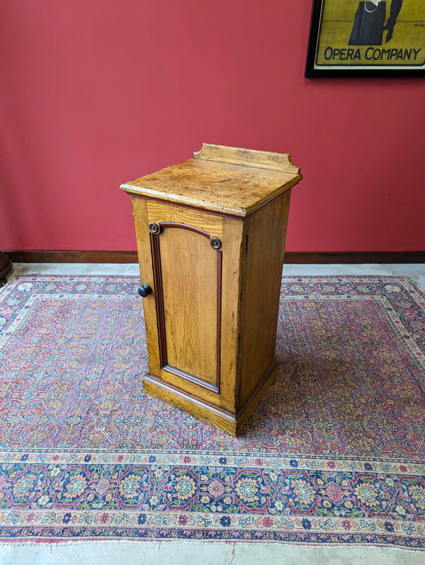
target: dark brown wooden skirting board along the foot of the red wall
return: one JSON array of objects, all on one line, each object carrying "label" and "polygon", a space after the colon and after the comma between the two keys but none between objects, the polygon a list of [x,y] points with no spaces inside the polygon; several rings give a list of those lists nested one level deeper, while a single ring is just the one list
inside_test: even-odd
[{"label": "dark brown wooden skirting board along the foot of the red wall", "polygon": [[[137,263],[137,251],[6,251],[13,263]],[[425,263],[425,251],[288,251],[292,264]]]}]

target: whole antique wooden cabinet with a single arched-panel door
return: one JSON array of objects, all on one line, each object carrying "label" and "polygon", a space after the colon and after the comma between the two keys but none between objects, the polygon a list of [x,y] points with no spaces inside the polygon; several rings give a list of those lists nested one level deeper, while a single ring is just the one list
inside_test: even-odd
[{"label": "whole antique wooden cabinet with a single arched-panel door", "polygon": [[237,435],[276,377],[289,155],[204,144],[121,186],[144,296],[145,391]]}]

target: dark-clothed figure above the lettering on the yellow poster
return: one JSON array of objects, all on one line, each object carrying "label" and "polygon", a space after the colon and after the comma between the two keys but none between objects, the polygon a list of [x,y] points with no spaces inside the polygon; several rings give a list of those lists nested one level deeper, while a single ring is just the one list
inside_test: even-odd
[{"label": "dark-clothed figure above the lettering on the yellow poster", "polygon": [[390,41],[403,0],[389,0],[390,16],[385,23],[387,2],[385,0],[361,1],[354,18],[348,45],[382,45],[384,30],[385,43]]}]

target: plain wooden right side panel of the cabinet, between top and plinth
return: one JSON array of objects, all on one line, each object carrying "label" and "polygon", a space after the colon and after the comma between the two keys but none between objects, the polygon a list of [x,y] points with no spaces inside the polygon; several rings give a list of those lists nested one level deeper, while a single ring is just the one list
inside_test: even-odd
[{"label": "plain wooden right side panel of the cabinet, between top and plinth", "polygon": [[240,406],[274,363],[290,191],[246,218],[242,274]]}]

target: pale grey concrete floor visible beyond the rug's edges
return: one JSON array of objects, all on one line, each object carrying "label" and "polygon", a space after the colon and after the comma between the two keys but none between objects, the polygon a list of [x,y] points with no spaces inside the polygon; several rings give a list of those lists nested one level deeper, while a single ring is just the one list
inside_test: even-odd
[{"label": "pale grey concrete floor visible beyond the rug's edges", "polygon": [[[137,264],[14,264],[14,274],[139,274]],[[425,264],[285,265],[284,275],[410,276],[425,291]],[[192,542],[0,544],[0,565],[425,565],[425,552],[379,547]]]}]

